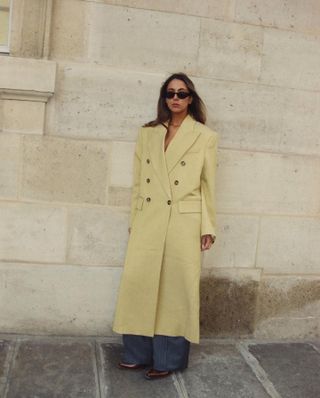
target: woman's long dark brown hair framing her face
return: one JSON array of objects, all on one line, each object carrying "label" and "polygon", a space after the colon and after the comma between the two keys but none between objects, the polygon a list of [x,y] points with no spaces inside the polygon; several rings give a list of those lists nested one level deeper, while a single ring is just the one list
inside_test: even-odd
[{"label": "woman's long dark brown hair framing her face", "polygon": [[174,79],[183,81],[184,84],[187,86],[189,92],[191,93],[192,102],[188,106],[189,115],[191,115],[198,122],[205,124],[206,107],[202,99],[199,97],[198,93],[196,92],[194,84],[190,80],[190,78],[185,73],[179,72],[169,76],[168,79],[162,84],[158,99],[157,117],[155,120],[151,120],[151,122],[146,123],[144,127],[154,127],[157,126],[158,124],[163,124],[167,120],[171,119],[171,112],[166,103],[166,92],[168,84]]}]

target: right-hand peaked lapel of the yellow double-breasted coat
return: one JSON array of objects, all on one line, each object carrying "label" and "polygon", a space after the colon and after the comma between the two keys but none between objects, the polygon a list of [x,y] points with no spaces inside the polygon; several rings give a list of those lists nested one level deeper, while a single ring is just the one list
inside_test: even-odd
[{"label": "right-hand peaked lapel of the yellow double-breasted coat", "polygon": [[190,115],[187,115],[170,142],[165,153],[168,173],[171,172],[199,136],[200,133],[195,131],[195,124],[196,121]]}]

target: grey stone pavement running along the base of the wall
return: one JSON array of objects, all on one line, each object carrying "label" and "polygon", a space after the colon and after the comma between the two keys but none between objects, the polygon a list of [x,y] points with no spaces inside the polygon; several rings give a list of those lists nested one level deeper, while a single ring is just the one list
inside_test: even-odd
[{"label": "grey stone pavement running along the base of the wall", "polygon": [[0,335],[0,397],[320,397],[320,341],[204,339],[156,381],[117,369],[121,352],[118,338]]}]

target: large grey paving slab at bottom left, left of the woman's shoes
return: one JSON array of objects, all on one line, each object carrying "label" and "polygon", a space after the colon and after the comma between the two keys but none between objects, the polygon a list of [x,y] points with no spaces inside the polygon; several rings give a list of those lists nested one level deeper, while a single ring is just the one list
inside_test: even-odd
[{"label": "large grey paving slab at bottom left, left of the woman's shoes", "polygon": [[94,358],[88,342],[21,341],[6,398],[97,398]]}]

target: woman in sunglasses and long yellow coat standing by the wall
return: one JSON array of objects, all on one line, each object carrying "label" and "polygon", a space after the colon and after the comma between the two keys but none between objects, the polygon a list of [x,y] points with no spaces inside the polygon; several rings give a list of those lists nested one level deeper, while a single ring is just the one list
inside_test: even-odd
[{"label": "woman in sunglasses and long yellow coat standing by the wall", "polygon": [[215,240],[217,134],[184,73],[160,89],[157,118],[140,129],[134,157],[130,237],[113,330],[121,369],[147,379],[188,366],[199,343],[201,251]]}]

